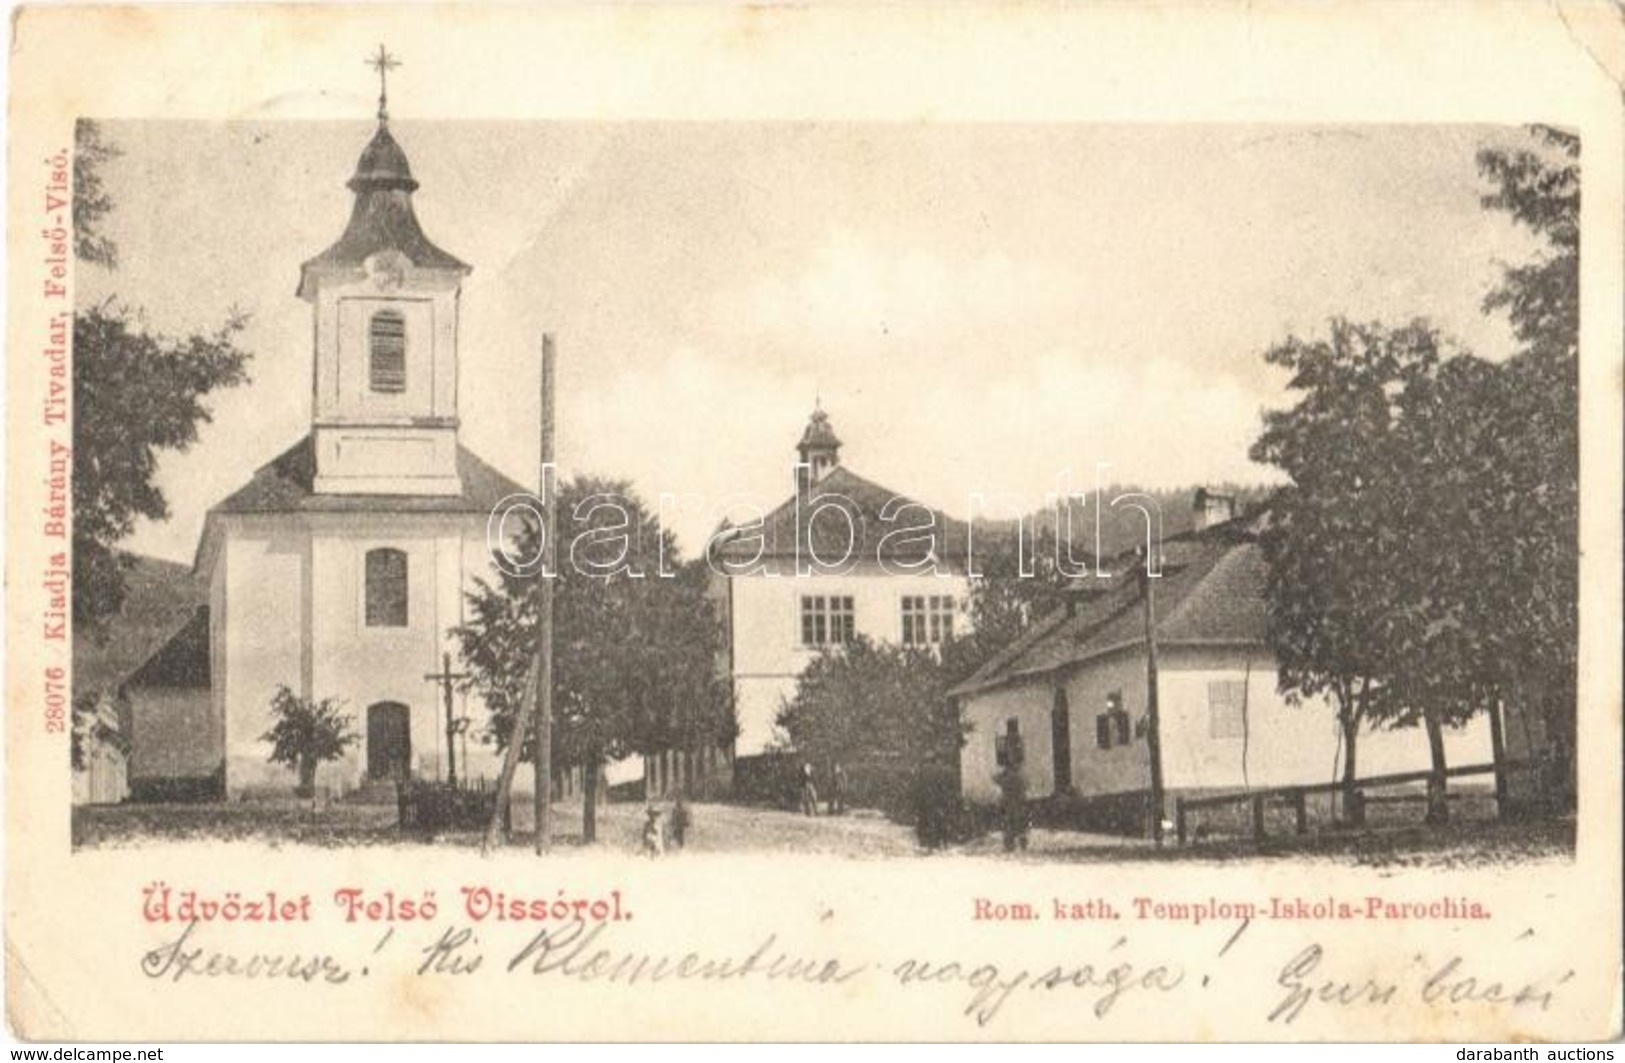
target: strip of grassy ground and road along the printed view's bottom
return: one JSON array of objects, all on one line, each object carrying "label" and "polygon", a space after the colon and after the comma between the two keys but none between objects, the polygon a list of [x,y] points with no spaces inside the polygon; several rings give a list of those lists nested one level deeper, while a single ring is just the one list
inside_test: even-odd
[{"label": "strip of grassy ground and road along the printed view's bottom", "polygon": [[[639,852],[644,834],[644,805],[619,803],[598,808],[598,845],[613,852]],[[528,816],[520,816],[514,845],[530,845]],[[117,847],[154,840],[250,839],[271,845],[395,845],[401,835],[392,805],[333,805],[314,811],[309,801],[273,800],[216,805],[122,805],[73,809],[76,845]],[[582,808],[556,809],[554,840],[561,847],[580,845]],[[437,847],[476,847],[476,832],[448,834]],[[1575,852],[1573,821],[1532,821],[1500,824],[1480,818],[1458,818],[1443,827],[1420,824],[1370,831],[1321,831],[1306,837],[1284,837],[1264,847],[1248,840],[1214,840],[1180,848],[1168,844],[1157,850],[1141,839],[1123,839],[1074,831],[1034,829],[1025,852],[1006,855],[998,834],[954,845],[942,855],[996,857],[1034,863],[1128,863],[1230,860],[1315,860],[1354,866],[1492,866],[1529,858],[1562,860]],[[847,816],[800,816],[777,809],[731,805],[694,805],[687,848],[691,852],[800,852],[848,858],[926,855],[907,826],[878,814],[856,811]]]}]

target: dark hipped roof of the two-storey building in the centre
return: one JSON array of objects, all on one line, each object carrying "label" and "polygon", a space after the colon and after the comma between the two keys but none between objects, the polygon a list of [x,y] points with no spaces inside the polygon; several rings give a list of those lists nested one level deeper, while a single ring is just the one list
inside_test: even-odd
[{"label": "dark hipped roof of the two-storey building in the centre", "polygon": [[[801,558],[811,562],[812,554],[816,554],[826,562],[834,562],[843,556],[848,546],[847,522],[834,515],[812,518],[821,507],[830,504],[842,509],[852,520],[852,541],[856,545],[852,554],[855,561],[876,561],[884,556],[899,562],[918,562],[925,556],[920,543],[925,538],[923,533],[920,536],[905,535],[908,528],[925,523],[920,512],[925,507],[907,496],[864,479],[843,465],[837,465],[827,476],[814,483],[808,497],[801,499],[800,507],[796,497],[790,497],[762,518],[760,532],[741,528],[738,538],[715,548],[717,556],[734,564],[748,564],[756,558],[756,541],[760,536],[762,558],[798,556],[796,543],[800,540]],[[900,509],[905,504],[910,509]],[[926,512],[933,517],[931,554],[939,561],[964,558],[967,525],[938,510],[928,509]],[[889,532],[895,532],[897,536],[882,546]]]}]

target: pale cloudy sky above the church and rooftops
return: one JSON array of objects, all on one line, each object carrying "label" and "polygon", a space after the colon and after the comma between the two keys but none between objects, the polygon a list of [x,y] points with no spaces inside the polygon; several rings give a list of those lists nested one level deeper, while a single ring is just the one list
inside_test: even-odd
[{"label": "pale cloudy sky above the church and rooftops", "polygon": [[[1290,403],[1263,353],[1332,315],[1427,317],[1503,358],[1482,301],[1531,237],[1485,211],[1490,127],[390,124],[429,239],[473,267],[462,440],[536,483],[541,333],[557,452],[630,479],[692,554],[730,501],[791,489],[814,401],[842,460],[968,515],[1058,484],[1268,483],[1248,445]],[[190,561],[206,509],[310,423],[299,265],[344,228],[370,122],[107,122],[109,273],[161,332],[250,314],[252,384],[166,453]],[[1011,515],[1011,514],[1006,514]]]}]

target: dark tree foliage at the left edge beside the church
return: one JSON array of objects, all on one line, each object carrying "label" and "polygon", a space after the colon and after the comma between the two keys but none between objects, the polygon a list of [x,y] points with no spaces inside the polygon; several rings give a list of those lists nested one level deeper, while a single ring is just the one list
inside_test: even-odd
[{"label": "dark tree foliage at the left edge beside the church", "polygon": [[[73,249],[114,268],[119,249],[101,224],[112,211],[102,166],[117,158],[94,122],[80,122],[73,156]],[[73,621],[99,637],[124,606],[128,558],[117,545],[136,520],[167,520],[159,457],[187,450],[210,421],[205,398],[247,382],[247,325],[232,312],[214,332],[167,338],[107,301],[73,317]]]}]

